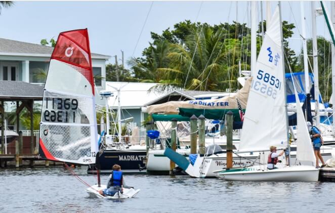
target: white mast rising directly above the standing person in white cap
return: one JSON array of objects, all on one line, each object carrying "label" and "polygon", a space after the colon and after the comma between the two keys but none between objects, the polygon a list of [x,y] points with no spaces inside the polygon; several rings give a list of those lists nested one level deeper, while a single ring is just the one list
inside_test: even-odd
[{"label": "white mast rising directly above the standing person in white cap", "polygon": [[312,42],[313,42],[313,71],[314,71],[314,99],[315,99],[315,125],[320,125],[320,109],[319,109],[319,71],[318,71],[318,51],[316,37],[316,10],[315,2],[311,2],[311,18],[312,18]]}]

